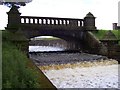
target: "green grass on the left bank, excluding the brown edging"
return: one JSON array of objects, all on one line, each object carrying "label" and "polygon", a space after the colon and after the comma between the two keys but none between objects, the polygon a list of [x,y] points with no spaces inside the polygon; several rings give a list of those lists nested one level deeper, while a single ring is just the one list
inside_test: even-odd
[{"label": "green grass on the left bank, excluding the brown edging", "polygon": [[3,88],[40,88],[38,74],[27,66],[27,57],[11,42],[3,42]]}]

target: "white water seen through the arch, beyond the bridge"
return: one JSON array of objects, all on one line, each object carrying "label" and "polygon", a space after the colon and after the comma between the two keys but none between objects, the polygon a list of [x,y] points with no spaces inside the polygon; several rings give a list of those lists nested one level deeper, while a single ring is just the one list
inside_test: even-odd
[{"label": "white water seen through the arch, beyond the bridge", "polygon": [[29,46],[29,52],[38,52],[38,51],[63,51],[63,48],[52,47],[52,46]]}]

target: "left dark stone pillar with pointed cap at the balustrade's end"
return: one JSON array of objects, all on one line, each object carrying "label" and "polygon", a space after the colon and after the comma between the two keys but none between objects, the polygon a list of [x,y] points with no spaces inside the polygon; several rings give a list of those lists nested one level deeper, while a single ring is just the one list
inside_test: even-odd
[{"label": "left dark stone pillar with pointed cap at the balustrade's end", "polygon": [[15,29],[17,30],[19,28],[19,25],[21,23],[21,13],[18,11],[17,6],[12,6],[8,14],[8,24],[6,29]]}]

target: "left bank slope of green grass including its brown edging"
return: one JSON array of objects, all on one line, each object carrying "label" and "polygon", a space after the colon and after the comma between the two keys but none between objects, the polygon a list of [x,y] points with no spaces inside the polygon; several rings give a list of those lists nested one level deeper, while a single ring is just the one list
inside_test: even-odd
[{"label": "left bank slope of green grass including its brown edging", "polygon": [[36,68],[32,60],[8,40],[2,37],[2,86],[3,88],[53,88],[52,84]]}]

